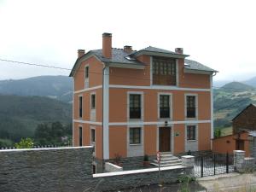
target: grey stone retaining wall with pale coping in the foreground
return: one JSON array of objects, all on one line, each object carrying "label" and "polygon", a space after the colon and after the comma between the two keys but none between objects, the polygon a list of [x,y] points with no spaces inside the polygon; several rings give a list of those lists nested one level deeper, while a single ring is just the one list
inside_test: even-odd
[{"label": "grey stone retaining wall with pale coping in the foreground", "polygon": [[[0,192],[90,192],[159,183],[158,168],[92,175],[92,147],[0,150]],[[161,168],[173,183],[193,166]]]}]

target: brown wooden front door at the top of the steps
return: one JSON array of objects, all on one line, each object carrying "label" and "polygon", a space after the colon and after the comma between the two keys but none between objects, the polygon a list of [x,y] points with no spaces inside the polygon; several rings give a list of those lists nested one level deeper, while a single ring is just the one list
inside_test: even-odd
[{"label": "brown wooden front door at the top of the steps", "polygon": [[159,128],[159,150],[160,152],[171,151],[171,127]]}]

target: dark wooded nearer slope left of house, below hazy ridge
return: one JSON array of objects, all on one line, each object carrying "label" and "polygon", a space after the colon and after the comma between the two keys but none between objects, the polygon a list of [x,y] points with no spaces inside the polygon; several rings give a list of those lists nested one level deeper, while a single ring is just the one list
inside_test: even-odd
[{"label": "dark wooded nearer slope left of house, below hazy ridge", "polygon": [[40,123],[72,122],[72,105],[42,96],[0,96],[0,138],[33,137]]}]

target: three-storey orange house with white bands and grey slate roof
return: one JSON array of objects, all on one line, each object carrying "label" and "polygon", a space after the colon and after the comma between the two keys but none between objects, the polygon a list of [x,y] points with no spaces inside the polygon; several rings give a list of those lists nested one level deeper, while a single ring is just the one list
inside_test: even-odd
[{"label": "three-storey orange house with white bands and grey slate roof", "polygon": [[96,161],[211,149],[212,76],[182,48],[78,51],[73,77],[73,145],[95,145]]}]

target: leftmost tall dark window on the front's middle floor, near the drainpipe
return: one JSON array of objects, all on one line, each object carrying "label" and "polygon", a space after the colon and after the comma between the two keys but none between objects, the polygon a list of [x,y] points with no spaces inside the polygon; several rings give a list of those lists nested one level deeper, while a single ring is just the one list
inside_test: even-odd
[{"label": "leftmost tall dark window on the front's middle floor, near the drainpipe", "polygon": [[130,119],[141,119],[142,117],[142,105],[141,95],[131,94],[129,98],[130,106]]}]

